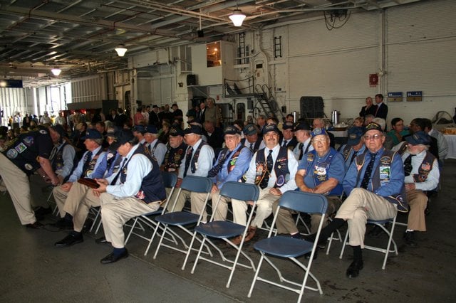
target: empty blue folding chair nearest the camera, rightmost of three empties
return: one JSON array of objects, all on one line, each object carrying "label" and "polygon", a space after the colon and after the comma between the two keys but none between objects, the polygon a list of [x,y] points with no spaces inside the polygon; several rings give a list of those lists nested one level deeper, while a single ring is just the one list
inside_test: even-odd
[{"label": "empty blue folding chair nearest the camera, rightmost of three empties", "polygon": [[[303,201],[305,201],[306,203],[303,203]],[[316,238],[318,239],[318,237],[320,236],[321,227],[323,226],[323,221],[325,220],[326,209],[328,208],[328,201],[326,200],[325,196],[316,193],[306,193],[301,191],[286,191],[284,195],[280,198],[279,207],[277,208],[277,211],[274,214],[274,220],[272,221],[273,226],[276,223],[277,215],[279,214],[279,210],[282,207],[303,213],[321,213],[321,220],[320,224],[318,225],[318,230],[316,233]],[[252,281],[252,286],[250,287],[249,294],[247,296],[250,297],[252,295],[252,291],[257,280],[266,282],[271,285],[275,285],[276,287],[291,290],[292,292],[296,292],[297,294],[299,294],[298,302],[301,301],[302,295],[304,294],[304,289],[311,289],[314,291],[318,291],[320,294],[323,294],[320,282],[311,273],[311,265],[312,261],[314,260],[314,255],[317,248],[317,241],[311,243],[306,240],[295,239],[283,235],[276,235],[275,237],[271,237],[271,234],[272,228],[271,230],[269,230],[268,238],[260,240],[259,242],[254,244],[254,248],[256,250],[259,250],[259,252],[261,253],[261,258],[257,266],[257,271],[255,272],[254,280]],[[301,257],[302,255],[305,255],[308,252],[311,252],[311,257],[309,258],[309,262],[307,263],[307,265],[304,265],[297,259],[297,257]],[[272,262],[271,258],[267,255],[272,255],[274,257],[279,258],[286,257],[289,260],[293,261],[296,265],[301,267],[306,272],[304,274],[304,280],[302,282],[287,280],[281,274],[279,267],[277,267],[274,264],[274,262]],[[261,269],[261,264],[263,260],[266,260],[266,262],[268,262],[269,265],[271,265],[271,267],[274,268],[274,270],[276,270],[280,282],[276,282],[274,280],[267,280],[264,277],[259,277],[259,271]],[[316,282],[316,288],[309,287],[306,285],[309,276]]]}]

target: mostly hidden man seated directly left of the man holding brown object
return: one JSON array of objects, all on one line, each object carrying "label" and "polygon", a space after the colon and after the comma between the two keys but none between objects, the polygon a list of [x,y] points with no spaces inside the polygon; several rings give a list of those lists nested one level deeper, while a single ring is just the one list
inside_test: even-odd
[{"label": "mostly hidden man seated directly left of the man holding brown object", "polygon": [[[113,130],[106,133],[106,139],[110,146],[117,140],[117,136],[118,134]],[[118,174],[120,161],[122,161],[122,156],[115,149],[108,149],[93,175],[108,178],[113,174]],[[56,247],[63,248],[83,242],[82,230],[90,208],[100,206],[100,199],[95,196],[92,188],[79,182],[75,182],[71,186],[63,211],[73,217],[73,231],[56,242],[54,244]],[[97,240],[97,242],[103,242],[103,240]]]}]

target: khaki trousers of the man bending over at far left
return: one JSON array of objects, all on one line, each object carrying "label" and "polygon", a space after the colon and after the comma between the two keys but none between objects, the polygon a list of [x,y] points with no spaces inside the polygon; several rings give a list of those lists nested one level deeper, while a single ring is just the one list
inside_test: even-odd
[{"label": "khaki trousers of the man bending over at far left", "polygon": [[36,222],[35,213],[31,208],[30,182],[24,171],[0,153],[0,176],[3,179],[9,196],[16,208],[17,216],[22,225]]}]

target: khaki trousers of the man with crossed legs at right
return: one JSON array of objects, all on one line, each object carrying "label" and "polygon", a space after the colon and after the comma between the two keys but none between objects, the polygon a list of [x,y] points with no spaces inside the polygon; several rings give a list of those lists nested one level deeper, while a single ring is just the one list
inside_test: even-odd
[{"label": "khaki trousers of the man with crossed legs at right", "polygon": [[347,220],[350,237],[348,244],[364,248],[367,220],[386,220],[394,218],[396,213],[396,206],[382,196],[364,188],[354,188],[346,201],[343,201],[336,218]]}]

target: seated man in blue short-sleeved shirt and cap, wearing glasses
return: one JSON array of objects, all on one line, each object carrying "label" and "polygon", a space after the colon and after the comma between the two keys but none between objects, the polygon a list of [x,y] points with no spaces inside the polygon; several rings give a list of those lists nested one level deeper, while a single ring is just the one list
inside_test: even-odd
[{"label": "seated man in blue short-sleeved shirt and cap, wearing glasses", "polygon": [[[296,186],[300,191],[321,193],[328,199],[326,216],[331,216],[341,206],[342,181],[345,175],[343,158],[336,149],[329,147],[329,137],[325,129],[316,128],[312,131],[313,151],[309,151],[299,162],[295,176]],[[275,212],[279,201],[272,206]],[[276,220],[278,233],[289,233],[291,237],[301,238],[292,212],[281,208]],[[311,233],[316,233],[321,215],[311,214]],[[327,225],[327,220],[324,226]]]}]

